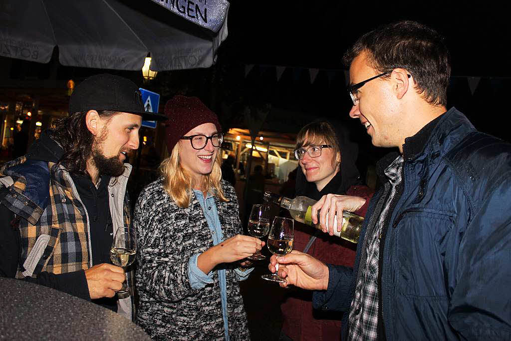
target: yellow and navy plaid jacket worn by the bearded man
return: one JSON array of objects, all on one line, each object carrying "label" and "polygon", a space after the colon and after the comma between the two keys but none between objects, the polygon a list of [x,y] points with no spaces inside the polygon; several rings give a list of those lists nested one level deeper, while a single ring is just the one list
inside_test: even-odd
[{"label": "yellow and navy plaid jacket worn by the bearded man", "polygon": [[[88,216],[71,176],[51,162],[30,164],[32,168],[28,168],[25,157],[20,157],[0,168],[0,176],[10,176],[14,183],[8,187],[3,204],[19,217],[21,259],[16,277],[36,277],[41,271],[63,274],[91,267]],[[27,188],[28,176],[33,180],[34,170],[40,183]],[[130,171],[128,166],[119,177],[124,179],[116,182],[113,178],[108,187],[112,219],[126,225],[130,223],[126,193]]]}]

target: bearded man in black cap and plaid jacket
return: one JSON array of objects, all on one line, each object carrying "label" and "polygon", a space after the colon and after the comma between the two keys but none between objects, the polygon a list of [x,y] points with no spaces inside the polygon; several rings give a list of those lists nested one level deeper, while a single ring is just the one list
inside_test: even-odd
[{"label": "bearded man in black cap and plaid jacket", "polygon": [[[138,87],[108,74],[85,79],[25,156],[0,168],[0,275],[55,288],[132,318],[110,263],[114,226],[130,224],[127,154],[138,149]],[[128,280],[131,280],[128,274]],[[130,285],[130,287],[132,287]]]}]

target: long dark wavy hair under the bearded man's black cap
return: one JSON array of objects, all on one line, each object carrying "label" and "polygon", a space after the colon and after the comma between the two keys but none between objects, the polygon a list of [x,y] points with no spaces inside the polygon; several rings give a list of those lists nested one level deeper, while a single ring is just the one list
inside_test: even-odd
[{"label": "long dark wavy hair under the bearded man's black cap", "polygon": [[[119,113],[112,110],[97,111],[102,119],[109,119]],[[87,128],[86,115],[87,111],[78,111],[55,120],[50,128],[50,137],[64,150],[58,163],[69,173],[88,176],[87,160],[92,155],[94,135]]]}]

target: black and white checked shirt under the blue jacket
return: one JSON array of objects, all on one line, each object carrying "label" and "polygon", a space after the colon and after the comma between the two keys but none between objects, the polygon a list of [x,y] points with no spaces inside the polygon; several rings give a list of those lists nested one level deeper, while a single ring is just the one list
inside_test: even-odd
[{"label": "black and white checked shirt under the blue jacket", "polygon": [[403,168],[403,156],[385,169],[385,175],[390,185],[385,184],[385,192],[390,195],[380,214],[378,222],[367,238],[366,249],[362,255],[365,262],[361,264],[358,274],[355,296],[353,298],[349,321],[350,340],[376,340],[378,339],[378,261],[380,259],[380,234],[382,225],[387,216],[390,202],[396,195],[396,188],[401,183],[401,169]]}]

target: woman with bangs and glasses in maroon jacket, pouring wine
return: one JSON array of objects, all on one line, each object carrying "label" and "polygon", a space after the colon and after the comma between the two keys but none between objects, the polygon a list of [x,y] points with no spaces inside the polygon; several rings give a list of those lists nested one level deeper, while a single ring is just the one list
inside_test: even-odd
[{"label": "woman with bangs and glasses in maroon jacket, pouring wine", "polygon": [[[362,185],[355,166],[358,146],[351,142],[340,124],[318,120],[303,127],[296,137],[298,159],[296,196],[319,200],[326,194],[341,194],[357,199],[365,215],[372,191]],[[294,249],[323,262],[352,266],[356,244],[296,223]],[[313,310],[312,292],[290,290],[281,305],[284,317],[281,340],[338,340],[341,316]]]}]

